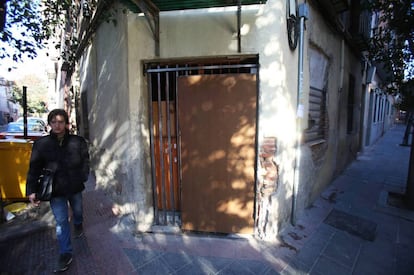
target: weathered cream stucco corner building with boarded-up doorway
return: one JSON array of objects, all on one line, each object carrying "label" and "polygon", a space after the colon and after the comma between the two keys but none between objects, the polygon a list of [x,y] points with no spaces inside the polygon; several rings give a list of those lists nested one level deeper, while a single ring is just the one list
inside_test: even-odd
[{"label": "weathered cream stucco corner building with boarded-up doorway", "polygon": [[119,230],[274,240],[392,124],[355,3],[108,2],[63,82]]}]

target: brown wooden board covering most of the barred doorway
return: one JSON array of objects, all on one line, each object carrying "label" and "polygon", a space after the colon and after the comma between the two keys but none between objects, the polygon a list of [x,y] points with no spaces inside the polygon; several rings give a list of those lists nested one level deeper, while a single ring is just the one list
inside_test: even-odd
[{"label": "brown wooden board covering most of the barred doorway", "polygon": [[256,77],[178,79],[182,228],[253,233]]}]

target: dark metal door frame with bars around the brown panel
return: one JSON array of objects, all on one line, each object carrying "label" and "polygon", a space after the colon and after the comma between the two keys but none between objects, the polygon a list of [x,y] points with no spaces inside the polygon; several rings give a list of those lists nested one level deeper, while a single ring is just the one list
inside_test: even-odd
[{"label": "dark metal door frame with bars around the brown panel", "polygon": [[[161,102],[166,101],[167,106],[171,102],[175,104],[175,112],[178,112],[179,104],[179,93],[177,91],[177,81],[176,79],[179,76],[188,76],[188,75],[205,75],[205,74],[234,74],[234,73],[251,73],[256,74],[256,80],[258,83],[258,55],[237,55],[237,56],[225,56],[225,57],[210,57],[210,58],[192,58],[188,60],[176,59],[176,60],[149,60],[144,61],[144,73],[147,76],[148,84],[148,110],[149,110],[149,132],[150,132],[150,152],[151,152],[151,175],[152,175],[152,191],[153,191],[153,207],[154,207],[154,223],[156,225],[178,225],[181,226],[181,213],[178,209],[174,207],[172,210],[166,210],[167,205],[167,196],[170,196],[171,201],[175,202],[175,199],[180,200],[181,195],[181,156],[180,156],[180,132],[179,132],[179,121],[178,116],[175,115],[174,125],[176,127],[176,141],[177,141],[177,158],[178,158],[178,198],[174,198],[174,190],[166,190],[165,182],[165,173],[170,174],[170,181],[173,179],[171,175],[173,174],[172,167],[172,144],[171,144],[171,118],[167,112],[167,153],[169,154],[169,165],[166,167],[166,164],[163,161],[161,146],[163,144],[162,134],[159,137],[159,144],[155,144],[154,129],[153,129],[153,102],[157,101],[158,103],[158,120],[157,125],[158,132],[162,133],[165,129],[163,125],[162,114],[161,114]],[[258,90],[258,89],[257,89]],[[156,100],[154,100],[156,99]],[[259,102],[259,101],[258,101]],[[257,108],[257,112],[258,112]],[[256,116],[256,121],[258,121],[258,116]],[[258,123],[256,123],[257,127]],[[257,132],[257,131],[256,131]],[[256,133],[257,135],[257,133]],[[160,171],[161,171],[161,201],[162,208],[158,209],[158,199],[159,194],[157,194],[157,179],[156,179],[156,169],[157,165],[155,163],[155,146],[160,146],[159,150],[159,160]],[[257,155],[257,136],[256,136],[256,145],[255,151]],[[257,180],[257,157],[255,160],[255,182]],[[171,185],[170,185],[171,186]],[[256,194],[256,184],[255,184],[255,194]],[[254,200],[254,213],[256,219],[256,199]]]}]

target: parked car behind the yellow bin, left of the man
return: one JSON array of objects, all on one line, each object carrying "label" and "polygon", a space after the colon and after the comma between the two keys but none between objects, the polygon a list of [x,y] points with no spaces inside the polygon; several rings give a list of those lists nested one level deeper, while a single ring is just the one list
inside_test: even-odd
[{"label": "parked car behind the yellow bin, left of the man", "polygon": [[[36,140],[48,133],[40,123],[27,124],[27,138]],[[4,132],[0,133],[1,139],[24,138],[24,124],[22,122],[10,122]]]}]

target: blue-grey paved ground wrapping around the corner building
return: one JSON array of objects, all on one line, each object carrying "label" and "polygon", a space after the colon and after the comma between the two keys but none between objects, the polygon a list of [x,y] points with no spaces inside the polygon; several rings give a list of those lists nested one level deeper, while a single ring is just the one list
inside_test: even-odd
[{"label": "blue-grey paved ground wrapping around the corner building", "polygon": [[[403,193],[409,147],[404,126],[366,148],[305,210],[267,243],[254,238],[122,231],[108,198],[88,183],[85,236],[73,240],[66,274],[414,274],[414,212],[391,206]],[[45,207],[45,206],[43,206]],[[46,209],[47,210],[47,209]],[[50,274],[57,244],[50,211],[0,226],[0,273]],[[139,217],[138,217],[139,218]]]}]

